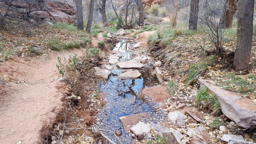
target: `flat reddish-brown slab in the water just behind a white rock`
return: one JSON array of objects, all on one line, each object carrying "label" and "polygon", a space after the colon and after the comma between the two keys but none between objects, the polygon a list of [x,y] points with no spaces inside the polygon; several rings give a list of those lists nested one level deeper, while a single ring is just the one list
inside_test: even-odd
[{"label": "flat reddish-brown slab in the water just behind a white rock", "polygon": [[129,116],[122,116],[119,118],[119,120],[121,121],[124,127],[124,130],[128,132],[130,130],[130,127],[133,124],[137,124],[139,120],[141,120],[143,117],[149,118],[148,113],[146,112],[146,113],[133,114]]}]

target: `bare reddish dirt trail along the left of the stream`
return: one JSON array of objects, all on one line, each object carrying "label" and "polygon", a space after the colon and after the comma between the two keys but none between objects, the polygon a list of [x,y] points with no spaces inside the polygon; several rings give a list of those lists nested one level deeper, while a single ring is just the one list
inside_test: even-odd
[{"label": "bare reddish dirt trail along the left of the stream", "polygon": [[0,65],[0,76],[16,84],[0,82],[0,140],[1,144],[21,142],[42,143],[58,113],[64,110],[61,101],[68,91],[57,79],[57,56],[68,57],[83,49],[52,53],[25,61],[14,57]]}]

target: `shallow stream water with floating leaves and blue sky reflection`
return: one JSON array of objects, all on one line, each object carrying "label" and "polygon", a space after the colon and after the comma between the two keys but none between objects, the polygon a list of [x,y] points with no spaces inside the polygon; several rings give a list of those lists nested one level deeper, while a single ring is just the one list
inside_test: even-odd
[{"label": "shallow stream water with floating leaves and blue sky reflection", "polygon": [[[124,50],[119,49],[119,51]],[[130,53],[131,52],[121,53],[122,58],[120,58],[120,61],[130,59]],[[103,129],[112,130],[114,132],[117,130],[121,131],[123,134],[119,139],[123,143],[130,144],[134,139],[124,131],[119,117],[154,111],[156,104],[147,96],[144,96],[142,90],[147,87],[155,86],[159,82],[151,75],[153,69],[140,69],[139,71],[142,76],[136,79],[120,79],[116,78],[116,76],[121,74],[120,70],[122,69],[116,68],[116,65],[112,66],[115,69],[111,71],[111,76],[109,76],[106,82],[101,82],[98,85],[99,91],[104,92],[106,95],[105,101],[107,104],[101,110],[100,114],[97,115],[97,125]],[[118,143],[112,134],[107,134],[112,140]]]}]

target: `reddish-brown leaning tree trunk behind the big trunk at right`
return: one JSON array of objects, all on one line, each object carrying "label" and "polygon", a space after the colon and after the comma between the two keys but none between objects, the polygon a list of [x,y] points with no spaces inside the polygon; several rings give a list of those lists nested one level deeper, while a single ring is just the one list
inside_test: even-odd
[{"label": "reddish-brown leaning tree trunk behind the big trunk at right", "polygon": [[233,23],[233,16],[237,10],[238,0],[226,0],[224,12],[221,17],[222,28],[231,28]]}]

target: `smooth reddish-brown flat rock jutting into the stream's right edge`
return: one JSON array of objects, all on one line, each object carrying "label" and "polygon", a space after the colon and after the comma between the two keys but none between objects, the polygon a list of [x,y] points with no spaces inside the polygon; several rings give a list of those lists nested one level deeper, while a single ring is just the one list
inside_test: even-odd
[{"label": "smooth reddish-brown flat rock jutting into the stream's right edge", "polygon": [[162,103],[164,103],[164,100],[170,96],[167,92],[166,86],[154,86],[145,88],[142,93],[150,97],[153,101]]}]

